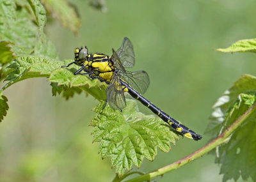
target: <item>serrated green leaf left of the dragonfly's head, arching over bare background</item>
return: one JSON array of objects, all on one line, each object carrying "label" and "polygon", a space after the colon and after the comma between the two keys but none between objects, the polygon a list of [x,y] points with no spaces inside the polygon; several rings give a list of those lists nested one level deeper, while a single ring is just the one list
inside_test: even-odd
[{"label": "serrated green leaf left of the dragonfly's head, arching over bare background", "polygon": [[62,64],[63,62],[45,57],[18,57],[8,66],[9,69],[12,69],[12,72],[9,72],[8,77],[5,79],[10,82],[4,86],[4,89],[20,80],[33,77],[49,77],[51,72],[56,68],[60,68]]}]

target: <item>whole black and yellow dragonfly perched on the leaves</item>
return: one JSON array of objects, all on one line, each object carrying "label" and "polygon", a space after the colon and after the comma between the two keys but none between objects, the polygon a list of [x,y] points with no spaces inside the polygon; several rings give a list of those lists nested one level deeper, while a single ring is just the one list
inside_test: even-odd
[{"label": "whole black and yellow dragonfly perched on the leaves", "polygon": [[121,47],[116,51],[112,49],[112,52],[113,55],[110,57],[105,54],[88,54],[86,47],[76,48],[74,62],[65,67],[77,64],[81,68],[74,73],[75,75],[89,75],[92,79],[106,82],[108,84],[107,102],[113,109],[124,109],[126,106],[125,94],[129,93],[177,132],[190,139],[202,139],[201,135],[182,125],[141,95],[149,86],[149,78],[145,71],[129,72],[125,70],[125,68],[133,67],[135,63],[133,46],[128,38],[124,38]]}]

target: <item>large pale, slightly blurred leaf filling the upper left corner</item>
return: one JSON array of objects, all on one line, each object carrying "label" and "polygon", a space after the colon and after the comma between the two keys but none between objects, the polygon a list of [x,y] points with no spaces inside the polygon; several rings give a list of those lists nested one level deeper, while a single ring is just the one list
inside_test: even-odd
[{"label": "large pale, slightly blurred leaf filling the upper left corner", "polygon": [[26,3],[26,6],[24,2],[23,6],[17,6],[15,1],[1,0],[0,41],[10,42],[8,47],[13,56],[57,58],[54,46],[43,33],[46,20],[44,7],[39,1],[29,2],[31,4]]}]

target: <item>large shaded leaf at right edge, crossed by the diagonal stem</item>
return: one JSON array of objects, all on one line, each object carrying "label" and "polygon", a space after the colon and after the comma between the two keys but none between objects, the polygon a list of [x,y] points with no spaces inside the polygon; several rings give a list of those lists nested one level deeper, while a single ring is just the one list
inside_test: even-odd
[{"label": "large shaded leaf at right edge, crossed by the diagonal stem", "polygon": [[[255,103],[256,77],[243,75],[214,104],[211,123],[206,133],[220,135]],[[256,113],[246,118],[232,134],[227,144],[216,149],[216,162],[221,164],[223,181],[241,176],[256,180]],[[230,167],[232,166],[232,167]]]}]

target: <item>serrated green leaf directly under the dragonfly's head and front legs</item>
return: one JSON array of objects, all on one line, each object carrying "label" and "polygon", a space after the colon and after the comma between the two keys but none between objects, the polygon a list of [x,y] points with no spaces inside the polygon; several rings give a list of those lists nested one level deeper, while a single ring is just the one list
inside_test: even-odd
[{"label": "serrated green leaf directly under the dragonfly's head and front legs", "polygon": [[[73,71],[75,72],[76,69],[73,69]],[[57,86],[61,86],[57,87],[54,85],[52,95],[56,95],[56,93],[60,94],[64,91],[63,96],[68,99],[74,93],[86,91],[86,93],[92,95],[97,100],[106,100],[107,85],[104,82],[100,82],[97,79],[92,80],[85,75],[74,75],[73,72],[70,72],[66,68],[54,70],[49,77],[49,81],[58,83]]]}]

